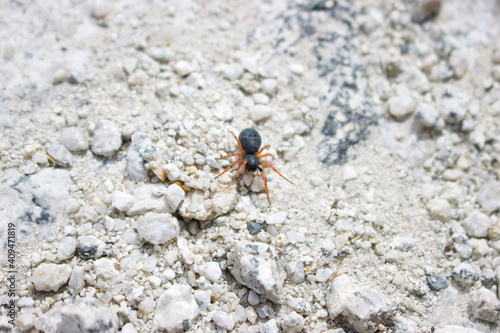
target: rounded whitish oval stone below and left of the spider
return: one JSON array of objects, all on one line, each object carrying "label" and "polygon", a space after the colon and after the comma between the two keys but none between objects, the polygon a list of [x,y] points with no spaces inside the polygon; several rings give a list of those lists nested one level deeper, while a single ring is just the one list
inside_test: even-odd
[{"label": "rounded whitish oval stone below and left of the spider", "polygon": [[137,232],[146,242],[164,244],[179,236],[179,221],[172,215],[146,213],[137,219]]}]

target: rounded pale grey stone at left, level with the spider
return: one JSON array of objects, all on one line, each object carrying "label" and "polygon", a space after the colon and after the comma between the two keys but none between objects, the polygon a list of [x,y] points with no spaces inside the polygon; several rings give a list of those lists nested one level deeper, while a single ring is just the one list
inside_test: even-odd
[{"label": "rounded pale grey stone at left, level with the spider", "polygon": [[122,136],[118,126],[111,120],[99,120],[92,137],[92,152],[99,156],[112,156],[122,146]]}]

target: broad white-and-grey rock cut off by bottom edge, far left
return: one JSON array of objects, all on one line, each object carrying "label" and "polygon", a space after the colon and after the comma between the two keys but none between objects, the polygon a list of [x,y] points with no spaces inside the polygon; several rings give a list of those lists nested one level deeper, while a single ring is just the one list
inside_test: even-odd
[{"label": "broad white-and-grey rock cut off by bottom edge, far left", "polygon": [[61,309],[57,332],[118,332],[118,316],[94,298],[81,298]]}]

